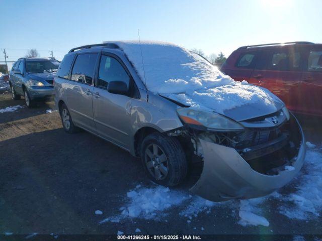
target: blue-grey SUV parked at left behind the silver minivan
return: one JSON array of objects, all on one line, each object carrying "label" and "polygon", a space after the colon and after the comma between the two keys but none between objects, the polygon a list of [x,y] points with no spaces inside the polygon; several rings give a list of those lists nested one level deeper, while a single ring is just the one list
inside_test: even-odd
[{"label": "blue-grey SUV parked at left behind the silver minivan", "polygon": [[9,84],[14,100],[25,97],[31,108],[36,100],[54,95],[53,79],[60,62],[51,58],[20,58],[10,71]]}]

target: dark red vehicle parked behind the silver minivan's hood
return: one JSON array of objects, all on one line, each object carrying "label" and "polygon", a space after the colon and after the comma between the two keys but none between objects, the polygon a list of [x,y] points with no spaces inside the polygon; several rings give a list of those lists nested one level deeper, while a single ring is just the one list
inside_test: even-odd
[{"label": "dark red vehicle parked behind the silver minivan's hood", "polygon": [[220,70],[234,80],[269,89],[295,113],[322,116],[322,44],[243,46]]}]

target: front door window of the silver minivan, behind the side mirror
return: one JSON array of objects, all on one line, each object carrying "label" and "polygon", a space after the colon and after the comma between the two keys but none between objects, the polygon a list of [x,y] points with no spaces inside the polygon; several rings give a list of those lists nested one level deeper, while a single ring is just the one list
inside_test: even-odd
[{"label": "front door window of the silver minivan, behind the side mirror", "polygon": [[99,69],[98,86],[107,88],[107,85],[111,81],[123,81],[129,87],[130,77],[115,58],[102,55]]}]

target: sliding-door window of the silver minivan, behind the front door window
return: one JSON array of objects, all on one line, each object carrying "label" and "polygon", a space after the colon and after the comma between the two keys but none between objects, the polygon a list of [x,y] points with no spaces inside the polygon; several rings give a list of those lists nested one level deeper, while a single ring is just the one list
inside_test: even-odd
[{"label": "sliding-door window of the silver minivan, behind the front door window", "polygon": [[71,80],[92,84],[97,53],[79,54],[71,71]]}]

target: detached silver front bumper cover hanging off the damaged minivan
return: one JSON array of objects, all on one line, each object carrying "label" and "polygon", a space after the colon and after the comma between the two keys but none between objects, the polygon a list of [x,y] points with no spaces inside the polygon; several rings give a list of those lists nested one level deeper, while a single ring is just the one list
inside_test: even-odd
[{"label": "detached silver front bumper cover hanging off the damaged minivan", "polygon": [[265,196],[286,185],[300,171],[306,152],[303,131],[293,118],[301,137],[298,153],[274,175],[255,171],[234,148],[200,139],[203,171],[190,191],[211,201],[225,201]]}]

